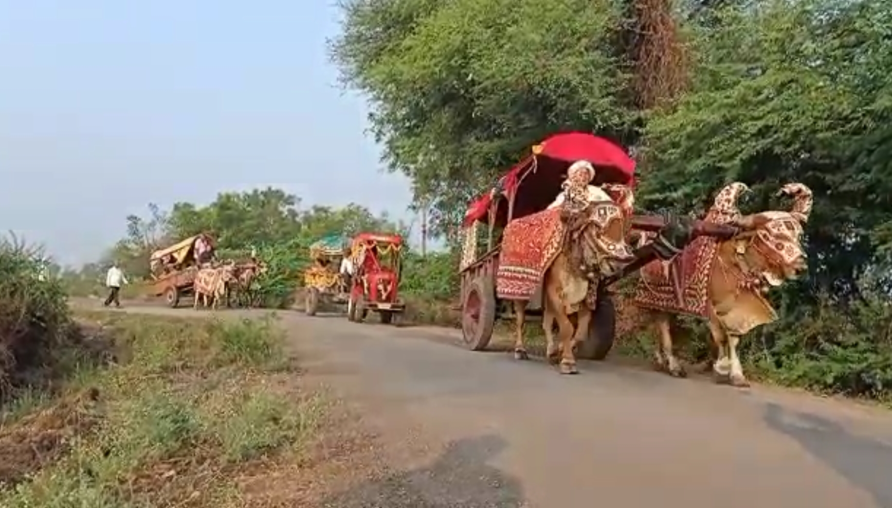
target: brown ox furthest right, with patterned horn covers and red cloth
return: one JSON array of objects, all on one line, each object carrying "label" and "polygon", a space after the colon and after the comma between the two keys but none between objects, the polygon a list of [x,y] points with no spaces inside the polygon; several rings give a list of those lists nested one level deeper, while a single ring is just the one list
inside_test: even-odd
[{"label": "brown ox furthest right, with patterned horn covers and red cloth", "polygon": [[[737,200],[744,192],[745,184],[728,185],[706,216],[708,221],[737,225],[741,233],[726,241],[700,238],[673,261],[655,261],[641,270],[633,302],[648,309],[645,317],[659,332],[657,367],[674,377],[686,373],[673,354],[673,315],[697,315],[709,322],[718,352],[712,363],[717,381],[748,386],[737,352],[739,340],[777,319],[764,293],[795,279],[806,267],[801,239],[812,209],[811,190],[803,184],[784,185],[780,193],[794,200],[789,212],[764,211],[742,217]],[[676,286],[681,287],[680,293]],[[683,295],[684,303],[675,303],[677,293]]]}]

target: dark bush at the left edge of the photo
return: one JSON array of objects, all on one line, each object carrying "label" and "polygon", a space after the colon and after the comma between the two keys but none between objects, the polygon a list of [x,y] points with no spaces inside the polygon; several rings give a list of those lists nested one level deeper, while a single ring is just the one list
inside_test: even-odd
[{"label": "dark bush at the left edge of the photo", "polygon": [[0,240],[0,400],[73,331],[68,297],[54,277],[41,280],[40,259],[14,236]]}]

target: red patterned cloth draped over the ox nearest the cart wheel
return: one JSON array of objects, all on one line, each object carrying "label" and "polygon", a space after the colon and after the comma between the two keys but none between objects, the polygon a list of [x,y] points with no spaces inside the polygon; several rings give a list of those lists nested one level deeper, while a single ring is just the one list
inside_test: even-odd
[{"label": "red patterned cloth draped over the ox nearest the cart wheel", "polygon": [[558,209],[547,209],[508,223],[502,233],[496,295],[531,299],[564,239]]}]

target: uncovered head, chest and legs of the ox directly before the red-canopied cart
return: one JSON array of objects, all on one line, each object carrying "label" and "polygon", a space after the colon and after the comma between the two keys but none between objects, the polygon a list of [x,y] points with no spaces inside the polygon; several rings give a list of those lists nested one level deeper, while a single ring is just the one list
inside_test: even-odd
[{"label": "uncovered head, chest and legs of the ox directly before the red-canopied cart", "polygon": [[[628,194],[631,203],[631,192]],[[606,196],[605,196],[606,197]],[[541,212],[548,213],[548,212]],[[632,259],[632,251],[624,241],[627,221],[624,210],[614,201],[568,199],[561,205],[563,234],[557,255],[545,269],[542,278],[542,327],[547,341],[547,355],[552,365],[560,364],[561,373],[577,373],[576,346],[585,340],[596,304],[598,282]],[[512,223],[514,224],[514,223]],[[512,231],[510,234],[531,234]],[[524,347],[525,310],[528,300],[515,299],[515,358],[529,356]],[[569,315],[576,313],[576,326]],[[560,345],[556,347],[553,324],[558,322]]]}]

